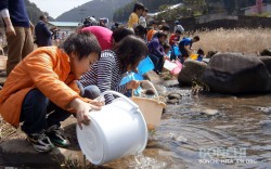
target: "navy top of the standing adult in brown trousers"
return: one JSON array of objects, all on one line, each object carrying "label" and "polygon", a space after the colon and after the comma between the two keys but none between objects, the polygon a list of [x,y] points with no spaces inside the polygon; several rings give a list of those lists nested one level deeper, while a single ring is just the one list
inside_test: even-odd
[{"label": "navy top of the standing adult in brown trousers", "polygon": [[0,0],[0,11],[8,9],[13,26],[29,28],[29,17],[24,0]]}]

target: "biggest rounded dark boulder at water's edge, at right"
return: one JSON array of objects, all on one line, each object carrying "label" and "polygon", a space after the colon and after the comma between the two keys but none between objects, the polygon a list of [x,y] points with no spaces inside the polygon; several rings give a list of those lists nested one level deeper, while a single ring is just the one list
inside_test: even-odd
[{"label": "biggest rounded dark boulder at water's edge, at right", "polygon": [[210,91],[228,94],[270,91],[269,79],[259,57],[233,53],[212,56],[203,76]]}]

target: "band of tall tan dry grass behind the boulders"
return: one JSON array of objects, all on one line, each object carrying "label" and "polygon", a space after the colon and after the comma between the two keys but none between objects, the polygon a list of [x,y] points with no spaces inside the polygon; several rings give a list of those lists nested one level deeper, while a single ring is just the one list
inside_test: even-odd
[{"label": "band of tall tan dry grass behind the boulders", "polygon": [[236,28],[196,31],[191,36],[198,35],[201,41],[193,44],[197,50],[202,48],[208,51],[219,52],[243,52],[259,54],[263,49],[271,48],[270,28]]}]

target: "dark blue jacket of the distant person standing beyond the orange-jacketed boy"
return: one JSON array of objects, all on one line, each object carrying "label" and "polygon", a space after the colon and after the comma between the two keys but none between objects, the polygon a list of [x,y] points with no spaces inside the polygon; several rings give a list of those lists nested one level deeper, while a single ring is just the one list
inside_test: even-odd
[{"label": "dark blue jacket of the distant person standing beyond the orange-jacketed boy", "polygon": [[52,32],[48,29],[43,21],[39,21],[35,26],[36,43],[38,47],[52,46]]}]

